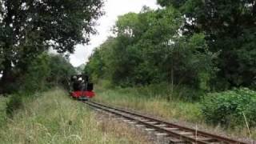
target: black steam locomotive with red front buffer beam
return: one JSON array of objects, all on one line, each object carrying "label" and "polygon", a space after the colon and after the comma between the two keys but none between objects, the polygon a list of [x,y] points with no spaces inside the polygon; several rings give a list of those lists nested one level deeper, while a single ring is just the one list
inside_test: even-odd
[{"label": "black steam locomotive with red front buffer beam", "polygon": [[95,96],[94,84],[90,83],[89,77],[85,74],[72,75],[70,78],[70,95],[80,101],[87,101]]}]

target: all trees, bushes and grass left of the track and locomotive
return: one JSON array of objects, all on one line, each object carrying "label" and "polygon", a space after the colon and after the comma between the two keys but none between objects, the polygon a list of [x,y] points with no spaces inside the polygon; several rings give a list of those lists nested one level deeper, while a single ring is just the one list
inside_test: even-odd
[{"label": "all trees, bushes and grass left of the track and locomotive", "polygon": [[52,90],[68,89],[69,54],[90,42],[102,5],[0,0],[0,143],[122,143],[66,91]]}]

